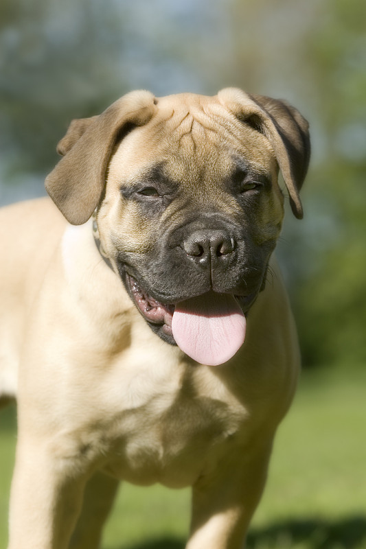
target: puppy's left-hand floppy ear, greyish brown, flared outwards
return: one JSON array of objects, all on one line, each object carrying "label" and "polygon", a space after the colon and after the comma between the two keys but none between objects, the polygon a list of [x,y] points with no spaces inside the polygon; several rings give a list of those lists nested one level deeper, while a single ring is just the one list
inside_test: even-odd
[{"label": "puppy's left-hand floppy ear, greyish brown, flared outwards", "polygon": [[133,91],[99,116],[74,120],[60,143],[65,156],[47,176],[45,187],[73,225],[87,222],[104,191],[106,170],[121,132],[143,126],[155,113],[155,97]]}]

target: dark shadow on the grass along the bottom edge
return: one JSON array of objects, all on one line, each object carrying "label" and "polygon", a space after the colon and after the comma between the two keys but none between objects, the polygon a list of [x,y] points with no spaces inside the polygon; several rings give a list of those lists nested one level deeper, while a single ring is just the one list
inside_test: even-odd
[{"label": "dark shadow on the grass along the bottom edge", "polygon": [[[318,519],[290,520],[266,528],[252,528],[247,549],[290,549],[304,544],[308,549],[356,549],[366,542],[366,516],[346,517],[339,521]],[[303,546],[303,545],[301,545]],[[180,539],[162,538],[155,541],[110,549],[184,549]]]}]

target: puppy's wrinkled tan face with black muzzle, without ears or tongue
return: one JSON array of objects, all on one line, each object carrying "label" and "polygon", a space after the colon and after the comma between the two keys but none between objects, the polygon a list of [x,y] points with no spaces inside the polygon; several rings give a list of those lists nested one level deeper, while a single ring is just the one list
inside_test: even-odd
[{"label": "puppy's wrinkled tan face with black muzzle, without ears or tongue", "polygon": [[225,111],[206,110],[167,102],[131,131],[113,154],[98,211],[106,254],[169,342],[167,313],[178,301],[213,290],[249,307],[282,224],[268,140]]}]

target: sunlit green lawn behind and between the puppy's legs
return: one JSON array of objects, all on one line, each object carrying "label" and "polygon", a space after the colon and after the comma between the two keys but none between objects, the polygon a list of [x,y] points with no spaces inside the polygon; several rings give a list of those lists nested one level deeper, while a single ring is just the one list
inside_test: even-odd
[{"label": "sunlit green lawn behind and between the puppy's legs", "polygon": [[[249,549],[366,549],[366,372],[304,372],[279,428]],[[14,410],[0,413],[0,549],[6,547]],[[124,484],[105,549],[183,549],[190,493]]]}]

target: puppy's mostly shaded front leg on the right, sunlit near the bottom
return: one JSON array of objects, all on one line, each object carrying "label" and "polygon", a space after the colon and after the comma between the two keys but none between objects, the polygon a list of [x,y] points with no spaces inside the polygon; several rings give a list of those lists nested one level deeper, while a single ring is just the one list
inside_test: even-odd
[{"label": "puppy's mostly shaded front leg on the right, sunlit near the bottom", "polygon": [[[262,495],[272,443],[238,451],[193,487],[186,549],[242,549]],[[238,453],[240,452],[240,455]]]}]

